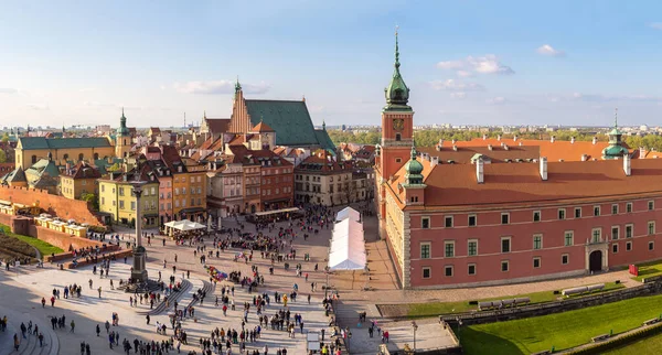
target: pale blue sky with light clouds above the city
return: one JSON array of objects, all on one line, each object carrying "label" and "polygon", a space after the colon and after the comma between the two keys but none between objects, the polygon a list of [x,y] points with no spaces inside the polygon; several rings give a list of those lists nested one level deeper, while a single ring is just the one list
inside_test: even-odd
[{"label": "pale blue sky with light clouds above the city", "polygon": [[394,28],[416,125],[659,125],[659,1],[0,2],[0,127],[181,126],[306,96],[377,125]]}]

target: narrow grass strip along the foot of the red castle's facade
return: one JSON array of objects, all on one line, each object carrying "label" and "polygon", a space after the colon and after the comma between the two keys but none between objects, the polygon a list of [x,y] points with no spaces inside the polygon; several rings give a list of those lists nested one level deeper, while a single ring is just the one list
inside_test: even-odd
[{"label": "narrow grass strip along the foot of the red castle's facade", "polygon": [[[621,289],[621,288],[624,288],[624,286],[622,283],[617,284],[613,282],[609,282],[609,283],[605,284],[605,289],[600,292],[617,290],[617,289]],[[590,294],[595,294],[595,293],[599,293],[599,292],[592,292]],[[581,295],[586,295],[586,294],[581,294]],[[581,295],[578,294],[578,295],[574,295],[574,297],[581,297]],[[498,301],[498,300],[516,299],[516,298],[524,298],[524,297],[527,297],[531,300],[531,303],[542,303],[542,302],[556,301],[556,299],[558,299],[562,295],[554,294],[553,291],[544,291],[544,292],[509,295],[509,297],[502,297],[502,298],[483,299],[483,300],[478,300],[478,301],[479,302]],[[477,309],[478,309],[478,305],[469,304],[468,301],[412,303],[412,304],[409,304],[409,309],[407,311],[407,316],[414,318],[414,319],[415,318],[426,318],[426,316],[438,316],[439,314],[461,313],[461,312],[468,312],[468,311],[477,310]]]}]

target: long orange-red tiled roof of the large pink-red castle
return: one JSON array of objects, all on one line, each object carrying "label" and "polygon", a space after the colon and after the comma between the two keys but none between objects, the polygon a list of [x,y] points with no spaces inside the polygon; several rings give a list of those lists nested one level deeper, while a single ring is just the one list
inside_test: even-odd
[{"label": "long orange-red tiled roof of the large pink-red castle", "polygon": [[[420,160],[420,158],[419,158]],[[583,198],[605,198],[660,193],[662,160],[631,160],[631,175],[626,176],[622,160],[588,162],[548,162],[547,180],[540,176],[540,163],[485,164],[484,183],[476,180],[471,164],[441,164],[434,168],[424,161],[425,206],[490,207],[530,205]],[[404,182],[402,168],[391,189],[402,200],[398,184]]]}]

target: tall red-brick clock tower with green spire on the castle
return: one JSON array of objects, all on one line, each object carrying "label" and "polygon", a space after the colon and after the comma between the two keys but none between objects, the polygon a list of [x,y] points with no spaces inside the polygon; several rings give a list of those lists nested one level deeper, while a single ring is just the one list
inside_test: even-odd
[{"label": "tall red-brick clock tower with green spire on the castle", "polygon": [[383,179],[389,179],[408,160],[414,144],[414,111],[407,105],[409,88],[399,72],[399,49],[395,32],[395,67],[388,87],[384,89],[386,106],[382,109],[382,147],[380,168]]}]

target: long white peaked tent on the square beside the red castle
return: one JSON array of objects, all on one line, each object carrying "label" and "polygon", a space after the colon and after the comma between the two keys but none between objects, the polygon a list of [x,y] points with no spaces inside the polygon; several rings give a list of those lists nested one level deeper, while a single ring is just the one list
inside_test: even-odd
[{"label": "long white peaked tent on the square beside the red castle", "polygon": [[363,270],[367,262],[363,225],[345,218],[333,226],[329,252],[329,269]]}]

